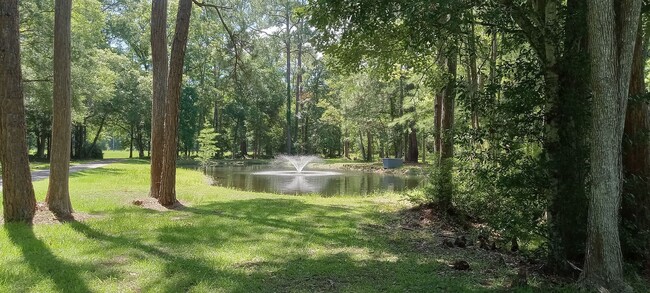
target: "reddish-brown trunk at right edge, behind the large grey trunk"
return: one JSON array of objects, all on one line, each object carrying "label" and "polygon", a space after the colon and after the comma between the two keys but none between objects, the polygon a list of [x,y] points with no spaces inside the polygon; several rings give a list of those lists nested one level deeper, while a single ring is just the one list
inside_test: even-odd
[{"label": "reddish-brown trunk at right edge, behind the large grey trunk", "polygon": [[650,107],[639,99],[646,93],[645,52],[648,34],[643,35],[643,25],[639,23],[632,78],[630,80],[630,102],[625,116],[623,139],[623,225],[627,228],[623,240],[623,254],[632,261],[644,261],[650,269]]}]

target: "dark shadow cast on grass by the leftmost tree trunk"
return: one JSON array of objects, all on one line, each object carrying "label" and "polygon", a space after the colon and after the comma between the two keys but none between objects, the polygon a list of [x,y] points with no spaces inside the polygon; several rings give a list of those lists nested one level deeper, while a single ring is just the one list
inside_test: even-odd
[{"label": "dark shadow cast on grass by the leftmost tree trunk", "polygon": [[25,224],[5,224],[9,239],[21,251],[27,265],[45,278],[49,278],[59,292],[91,292],[81,277],[97,268],[71,264],[55,256],[49,247],[39,240],[32,227]]}]

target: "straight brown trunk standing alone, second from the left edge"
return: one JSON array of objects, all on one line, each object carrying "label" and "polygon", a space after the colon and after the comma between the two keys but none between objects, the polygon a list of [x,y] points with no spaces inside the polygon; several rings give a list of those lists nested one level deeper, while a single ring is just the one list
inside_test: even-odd
[{"label": "straight brown trunk standing alone, second from the left edge", "polygon": [[50,156],[50,181],[45,201],[50,211],[61,218],[72,218],[68,186],[72,137],[71,14],[72,0],[55,1],[52,155]]}]

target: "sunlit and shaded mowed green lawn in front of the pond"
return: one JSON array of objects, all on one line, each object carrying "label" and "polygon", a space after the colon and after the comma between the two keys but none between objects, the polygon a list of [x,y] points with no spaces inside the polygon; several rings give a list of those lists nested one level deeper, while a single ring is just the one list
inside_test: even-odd
[{"label": "sunlit and shaded mowed green lawn in front of the pond", "polygon": [[[148,181],[139,160],[75,173],[73,205],[94,217],[4,225],[0,292],[483,292],[515,273],[473,260],[485,252],[445,250],[425,230],[401,229],[396,196],[256,194],[179,169],[186,208],[156,211],[132,204]],[[42,201],[47,181],[34,186]],[[449,268],[458,259],[473,269]]]}]

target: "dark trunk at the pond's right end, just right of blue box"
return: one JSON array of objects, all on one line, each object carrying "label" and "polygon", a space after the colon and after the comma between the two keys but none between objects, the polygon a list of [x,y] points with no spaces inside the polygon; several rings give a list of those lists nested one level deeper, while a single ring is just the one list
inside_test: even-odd
[{"label": "dark trunk at the pond's right end, just right of blue box", "polygon": [[448,81],[445,98],[442,102],[441,144],[438,161],[438,206],[447,211],[452,208],[454,168],[454,108],[456,102],[456,74],[458,65],[458,48],[450,49],[447,58]]}]

